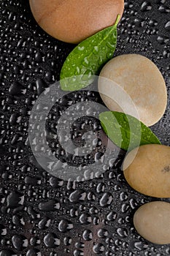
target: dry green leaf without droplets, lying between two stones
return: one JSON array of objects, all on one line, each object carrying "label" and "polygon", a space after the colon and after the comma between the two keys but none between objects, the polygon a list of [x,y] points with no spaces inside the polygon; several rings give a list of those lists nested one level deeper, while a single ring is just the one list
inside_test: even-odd
[{"label": "dry green leaf without droplets, lying between two stones", "polygon": [[146,144],[161,144],[151,129],[134,116],[107,111],[101,113],[99,118],[109,139],[126,151]]}]

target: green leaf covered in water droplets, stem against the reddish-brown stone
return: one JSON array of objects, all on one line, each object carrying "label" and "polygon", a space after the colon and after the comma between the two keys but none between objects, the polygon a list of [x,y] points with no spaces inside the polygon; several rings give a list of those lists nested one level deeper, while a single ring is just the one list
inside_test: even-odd
[{"label": "green leaf covered in water droplets, stem against the reddish-brown stone", "polygon": [[[69,54],[61,69],[63,91],[77,91],[93,82],[104,64],[112,59],[117,44],[117,23],[80,42]],[[68,79],[65,79],[68,78]],[[65,80],[64,80],[65,79]]]}]

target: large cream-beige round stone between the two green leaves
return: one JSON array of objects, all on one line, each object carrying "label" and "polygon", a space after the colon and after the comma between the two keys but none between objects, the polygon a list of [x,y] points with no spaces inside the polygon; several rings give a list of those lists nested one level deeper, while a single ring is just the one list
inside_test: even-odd
[{"label": "large cream-beige round stone between the two green leaves", "polygon": [[[145,125],[151,126],[163,116],[167,104],[166,83],[158,67],[150,59],[139,54],[117,56],[101,69],[100,76],[113,80],[123,88],[134,101],[139,119]],[[98,91],[102,91],[101,99],[109,110],[131,115],[128,105],[122,110],[124,97],[122,97],[122,105],[117,105],[114,89],[112,90],[100,79]],[[109,92],[109,97],[103,92]]]}]

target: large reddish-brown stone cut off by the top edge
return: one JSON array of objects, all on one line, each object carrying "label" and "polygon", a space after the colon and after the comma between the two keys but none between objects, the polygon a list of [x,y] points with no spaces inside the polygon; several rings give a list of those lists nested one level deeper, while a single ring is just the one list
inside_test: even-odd
[{"label": "large reddish-brown stone cut off by the top edge", "polygon": [[112,26],[124,0],[29,0],[36,22],[52,37],[78,43]]}]

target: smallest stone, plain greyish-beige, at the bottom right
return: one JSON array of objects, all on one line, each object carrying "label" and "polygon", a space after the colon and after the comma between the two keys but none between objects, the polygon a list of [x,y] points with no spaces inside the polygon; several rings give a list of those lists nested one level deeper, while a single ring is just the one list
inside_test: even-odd
[{"label": "smallest stone, plain greyish-beige, at the bottom right", "polygon": [[134,227],[154,244],[170,244],[170,203],[155,201],[144,204],[134,214]]}]

